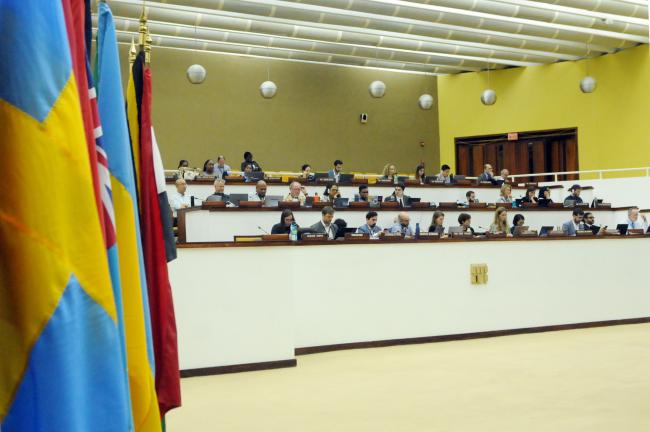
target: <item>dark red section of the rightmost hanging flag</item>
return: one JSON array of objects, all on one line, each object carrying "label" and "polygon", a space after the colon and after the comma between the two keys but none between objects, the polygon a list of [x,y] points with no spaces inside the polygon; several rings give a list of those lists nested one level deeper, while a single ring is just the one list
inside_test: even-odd
[{"label": "dark red section of the rightmost hanging flag", "polygon": [[176,318],[172,299],[151,136],[151,70],[143,73],[140,106],[140,204],[142,246],[149,290],[149,311],[156,360],[160,415],[181,405]]}]

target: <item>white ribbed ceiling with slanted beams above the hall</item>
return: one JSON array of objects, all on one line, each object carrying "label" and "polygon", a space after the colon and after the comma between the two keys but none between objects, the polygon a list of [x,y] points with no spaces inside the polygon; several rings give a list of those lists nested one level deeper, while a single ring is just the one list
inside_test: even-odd
[{"label": "white ribbed ceiling with slanted beams above the hall", "polygon": [[[142,1],[110,0],[120,42]],[[643,0],[146,1],[155,46],[453,74],[577,60],[648,43]],[[137,40],[137,37],[136,37]]]}]

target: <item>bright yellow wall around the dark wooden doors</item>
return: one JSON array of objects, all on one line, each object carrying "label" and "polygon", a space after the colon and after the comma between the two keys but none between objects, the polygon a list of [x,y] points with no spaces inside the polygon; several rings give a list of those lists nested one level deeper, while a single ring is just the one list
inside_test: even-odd
[{"label": "bright yellow wall around the dark wooden doors", "polygon": [[[592,94],[579,89],[589,74]],[[484,106],[487,73],[438,79],[440,160],[455,164],[455,137],[578,128],[581,170],[650,166],[650,57],[641,45],[591,60],[490,72],[497,103]]]}]

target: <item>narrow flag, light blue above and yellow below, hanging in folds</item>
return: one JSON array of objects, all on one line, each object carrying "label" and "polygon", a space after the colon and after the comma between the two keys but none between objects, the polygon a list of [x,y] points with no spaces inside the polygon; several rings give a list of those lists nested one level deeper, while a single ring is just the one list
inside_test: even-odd
[{"label": "narrow flag, light blue above and yellow below, hanging in folds", "polygon": [[108,159],[116,226],[116,244],[109,249],[109,256],[114,254],[119,258],[118,283],[124,305],[133,421],[136,431],[157,432],[161,430],[161,424],[154,381],[137,186],[122,95],[115,25],[109,6],[103,2],[99,4],[95,77],[103,130],[102,147]]}]

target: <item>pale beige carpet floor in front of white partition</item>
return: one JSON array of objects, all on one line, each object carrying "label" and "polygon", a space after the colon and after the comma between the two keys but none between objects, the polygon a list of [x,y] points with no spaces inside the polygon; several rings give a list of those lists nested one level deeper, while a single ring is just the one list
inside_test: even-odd
[{"label": "pale beige carpet floor in front of white partition", "polygon": [[168,432],[649,432],[650,324],[313,354],[182,390]]}]

